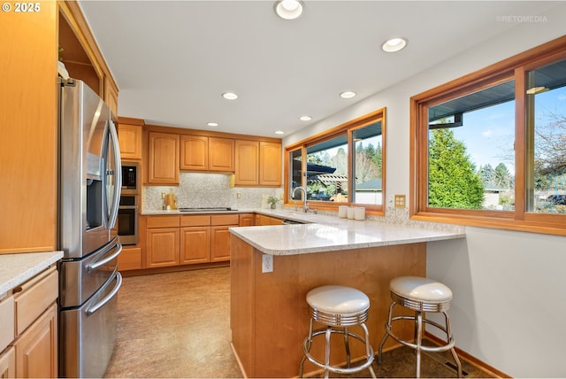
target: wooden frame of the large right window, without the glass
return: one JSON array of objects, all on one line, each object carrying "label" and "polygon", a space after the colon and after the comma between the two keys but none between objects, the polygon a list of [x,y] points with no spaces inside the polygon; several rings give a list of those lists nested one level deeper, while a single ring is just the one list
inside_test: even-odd
[{"label": "wooden frame of the large right window, without the glass", "polygon": [[[566,36],[524,51],[410,98],[411,220],[455,223],[566,236],[566,215],[526,211],[526,73],[566,58]],[[428,206],[428,108],[503,81],[515,80],[515,210],[463,210]]]}]

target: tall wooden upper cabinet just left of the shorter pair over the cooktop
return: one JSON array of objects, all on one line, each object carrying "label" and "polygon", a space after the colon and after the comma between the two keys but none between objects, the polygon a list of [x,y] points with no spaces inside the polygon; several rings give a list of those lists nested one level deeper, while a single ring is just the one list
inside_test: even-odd
[{"label": "tall wooden upper cabinet just left of the shorter pair over the cooktop", "polygon": [[179,184],[180,136],[149,132],[148,183]]}]

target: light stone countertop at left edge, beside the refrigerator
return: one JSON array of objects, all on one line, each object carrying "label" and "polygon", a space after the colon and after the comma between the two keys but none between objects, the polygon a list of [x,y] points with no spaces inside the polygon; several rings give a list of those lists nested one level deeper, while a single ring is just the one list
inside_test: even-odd
[{"label": "light stone countertop at left edge, beside the refrigerator", "polygon": [[62,258],[63,251],[0,254],[0,298]]}]

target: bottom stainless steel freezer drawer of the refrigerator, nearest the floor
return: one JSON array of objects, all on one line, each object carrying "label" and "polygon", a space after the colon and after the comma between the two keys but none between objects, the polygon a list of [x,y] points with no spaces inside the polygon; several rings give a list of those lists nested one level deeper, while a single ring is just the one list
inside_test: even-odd
[{"label": "bottom stainless steel freezer drawer of the refrigerator, nearest the floor", "polygon": [[59,375],[103,377],[116,344],[118,271],[83,306],[59,313]]}]

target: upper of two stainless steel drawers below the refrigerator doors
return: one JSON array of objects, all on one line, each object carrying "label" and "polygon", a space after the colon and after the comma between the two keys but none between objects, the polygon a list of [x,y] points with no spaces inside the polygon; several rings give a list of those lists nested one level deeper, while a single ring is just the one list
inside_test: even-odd
[{"label": "upper of two stainless steel drawers below the refrigerator doors", "polygon": [[122,245],[118,237],[83,259],[59,262],[59,306],[80,306],[113,275]]}]

